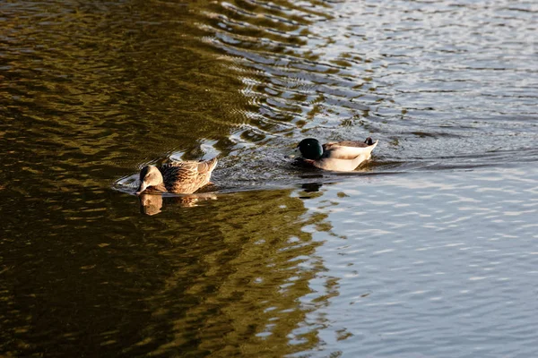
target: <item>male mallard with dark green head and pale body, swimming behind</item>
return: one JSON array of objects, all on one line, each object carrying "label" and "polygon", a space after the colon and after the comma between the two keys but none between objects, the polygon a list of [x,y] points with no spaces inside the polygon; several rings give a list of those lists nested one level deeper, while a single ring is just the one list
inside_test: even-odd
[{"label": "male mallard with dark green head and pale body, swimming behind", "polygon": [[323,146],[314,138],[300,141],[298,147],[303,161],[320,169],[350,172],[370,158],[377,141],[332,141]]}]

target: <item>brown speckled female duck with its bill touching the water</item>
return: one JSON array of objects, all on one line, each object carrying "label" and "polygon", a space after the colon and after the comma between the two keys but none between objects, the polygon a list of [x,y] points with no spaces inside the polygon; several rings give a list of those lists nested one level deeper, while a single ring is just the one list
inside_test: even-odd
[{"label": "brown speckled female duck with its bill touching the water", "polygon": [[207,161],[171,162],[161,167],[144,166],[140,171],[140,195],[149,187],[161,192],[190,194],[209,183],[217,158]]}]

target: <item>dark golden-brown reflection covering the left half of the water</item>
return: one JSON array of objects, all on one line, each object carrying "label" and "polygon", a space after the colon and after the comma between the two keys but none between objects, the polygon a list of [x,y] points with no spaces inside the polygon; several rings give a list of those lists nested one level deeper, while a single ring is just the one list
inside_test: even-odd
[{"label": "dark golden-brown reflection covering the left half of the water", "polygon": [[[273,356],[317,344],[308,328],[296,345],[290,337],[323,304],[300,299],[323,270],[313,255],[319,243],[303,228],[325,217],[308,216],[290,190],[142,196],[140,204],[110,190],[170,152],[200,158],[210,142],[226,157],[280,126],[243,96],[259,69],[214,46],[226,37],[214,29],[231,19],[249,40],[267,35],[271,53],[299,50],[305,42],[285,32],[307,34],[309,22],[298,7],[274,4],[282,11],[213,2],[11,5],[0,91],[10,214],[0,352]],[[228,19],[212,19],[213,11]],[[238,157],[234,175],[246,162]],[[274,163],[262,164],[256,175]]]}]

